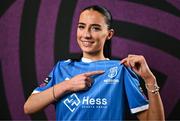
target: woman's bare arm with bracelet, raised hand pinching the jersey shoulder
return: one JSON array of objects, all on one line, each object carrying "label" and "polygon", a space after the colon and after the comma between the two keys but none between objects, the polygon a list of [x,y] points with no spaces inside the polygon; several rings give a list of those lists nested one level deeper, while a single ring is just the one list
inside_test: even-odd
[{"label": "woman's bare arm with bracelet, raised hand pinching the jersey shoulder", "polygon": [[121,60],[121,63],[130,67],[145,81],[145,86],[148,92],[149,108],[146,111],[138,113],[138,119],[146,121],[164,121],[164,108],[156,77],[149,69],[145,58],[142,55],[128,55],[127,58]]}]

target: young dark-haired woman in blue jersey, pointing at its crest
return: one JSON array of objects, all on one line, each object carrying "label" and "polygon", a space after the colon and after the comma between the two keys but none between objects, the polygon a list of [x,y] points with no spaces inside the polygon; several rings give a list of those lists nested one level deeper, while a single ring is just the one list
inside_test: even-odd
[{"label": "young dark-haired woman in blue jersey, pointing at its crest", "polygon": [[[104,7],[90,6],[81,12],[77,42],[82,59],[59,61],[45,80],[46,85],[37,87],[26,101],[26,114],[54,103],[57,120],[125,120],[126,110],[140,120],[164,120],[159,87],[145,58],[105,58],[104,44],[114,33],[111,21]],[[136,74],[144,79],[148,99]]]}]

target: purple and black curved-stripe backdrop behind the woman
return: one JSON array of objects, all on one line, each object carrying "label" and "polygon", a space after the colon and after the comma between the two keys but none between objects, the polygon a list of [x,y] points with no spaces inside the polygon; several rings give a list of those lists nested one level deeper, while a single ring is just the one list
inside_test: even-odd
[{"label": "purple and black curved-stripe backdrop behind the woman", "polygon": [[114,17],[111,57],[143,54],[158,78],[166,119],[180,119],[180,0],[1,0],[1,120],[55,119],[52,105],[31,116],[23,105],[57,60],[80,55],[78,15],[92,4]]}]

